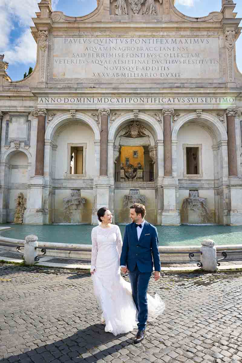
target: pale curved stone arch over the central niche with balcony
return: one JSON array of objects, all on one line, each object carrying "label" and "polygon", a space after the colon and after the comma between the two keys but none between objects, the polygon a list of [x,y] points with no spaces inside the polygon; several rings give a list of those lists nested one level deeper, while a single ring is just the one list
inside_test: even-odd
[{"label": "pale curved stone arch over the central niche with balcony", "polygon": [[[110,126],[110,129],[108,132],[108,140],[109,141],[115,140],[116,136],[118,135],[118,133],[120,131],[121,125],[123,123],[127,123],[128,121],[131,121],[132,119],[134,119],[134,114],[132,112],[126,113],[126,114],[118,117],[114,121],[114,123],[112,123],[112,125]],[[152,116],[147,115],[145,113],[139,112],[138,120],[143,121],[146,124],[147,129],[150,132],[153,131],[155,133],[153,135],[155,140],[163,140],[163,130],[155,118],[153,118]]]}]

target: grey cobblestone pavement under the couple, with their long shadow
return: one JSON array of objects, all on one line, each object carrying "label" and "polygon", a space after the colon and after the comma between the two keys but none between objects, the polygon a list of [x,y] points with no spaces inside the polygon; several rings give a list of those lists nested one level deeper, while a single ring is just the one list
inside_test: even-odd
[{"label": "grey cobblestone pavement under the couple, with their long shadow", "polygon": [[136,345],[104,332],[87,272],[2,264],[0,290],[0,363],[242,361],[242,272],[152,278],[167,308]]}]

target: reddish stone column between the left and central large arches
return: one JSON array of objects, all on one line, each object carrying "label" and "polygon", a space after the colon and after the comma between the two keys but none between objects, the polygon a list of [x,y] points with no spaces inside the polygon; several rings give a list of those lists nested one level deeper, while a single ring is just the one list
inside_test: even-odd
[{"label": "reddish stone column between the left and central large arches", "polygon": [[109,109],[99,109],[101,115],[101,130],[100,130],[100,176],[107,176],[107,143],[108,143],[108,115]]}]

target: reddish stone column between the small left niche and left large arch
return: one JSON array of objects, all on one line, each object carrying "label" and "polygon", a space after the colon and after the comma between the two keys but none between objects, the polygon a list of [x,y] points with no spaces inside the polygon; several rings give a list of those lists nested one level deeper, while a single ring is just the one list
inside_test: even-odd
[{"label": "reddish stone column between the small left niche and left large arch", "polygon": [[31,114],[34,117],[38,117],[34,175],[35,176],[44,176],[46,109],[35,109]]}]

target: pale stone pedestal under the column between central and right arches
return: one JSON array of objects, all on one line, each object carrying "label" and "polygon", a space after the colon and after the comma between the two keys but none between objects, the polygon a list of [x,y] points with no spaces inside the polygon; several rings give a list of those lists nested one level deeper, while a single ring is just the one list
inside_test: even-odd
[{"label": "pale stone pedestal under the column between central and right arches", "polygon": [[163,201],[161,225],[180,225],[180,213],[177,196],[178,180],[172,177],[163,179]]}]

